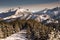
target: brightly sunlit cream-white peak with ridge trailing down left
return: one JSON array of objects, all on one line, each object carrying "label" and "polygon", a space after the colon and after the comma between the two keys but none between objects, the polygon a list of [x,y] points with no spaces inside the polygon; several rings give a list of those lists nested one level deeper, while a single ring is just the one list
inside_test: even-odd
[{"label": "brightly sunlit cream-white peak with ridge trailing down left", "polygon": [[17,9],[14,15],[5,17],[3,19],[6,20],[6,19],[10,19],[10,18],[17,18],[17,17],[22,17],[22,19],[23,19],[29,14],[31,14],[31,12],[28,11],[27,9]]}]

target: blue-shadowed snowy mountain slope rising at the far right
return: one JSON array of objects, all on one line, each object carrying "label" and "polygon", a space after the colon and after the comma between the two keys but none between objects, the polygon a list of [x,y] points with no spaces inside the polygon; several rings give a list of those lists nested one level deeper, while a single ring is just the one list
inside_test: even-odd
[{"label": "blue-shadowed snowy mountain slope rising at the far right", "polygon": [[36,15],[47,14],[53,19],[60,18],[60,7],[52,8],[52,9],[44,9],[38,12],[35,12]]}]

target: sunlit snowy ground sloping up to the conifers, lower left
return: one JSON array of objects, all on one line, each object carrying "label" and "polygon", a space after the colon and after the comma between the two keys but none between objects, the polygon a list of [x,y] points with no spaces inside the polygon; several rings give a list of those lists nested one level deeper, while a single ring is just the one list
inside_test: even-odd
[{"label": "sunlit snowy ground sloping up to the conifers, lower left", "polygon": [[0,40],[28,40],[28,39],[26,38],[26,30],[21,30],[18,33],[15,33],[5,39]]}]

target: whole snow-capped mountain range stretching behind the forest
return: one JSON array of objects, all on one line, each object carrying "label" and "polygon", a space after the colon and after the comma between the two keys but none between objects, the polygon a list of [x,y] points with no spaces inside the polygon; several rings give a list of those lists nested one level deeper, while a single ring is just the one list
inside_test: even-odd
[{"label": "whole snow-capped mountain range stretching behind the forest", "polygon": [[4,20],[7,22],[14,21],[15,19],[33,19],[37,20],[38,22],[43,23],[58,23],[58,20],[60,19],[60,7],[55,7],[52,9],[43,9],[41,11],[37,12],[31,12],[29,9],[16,9],[16,10],[8,10],[8,12],[2,12],[0,13],[0,20]]}]

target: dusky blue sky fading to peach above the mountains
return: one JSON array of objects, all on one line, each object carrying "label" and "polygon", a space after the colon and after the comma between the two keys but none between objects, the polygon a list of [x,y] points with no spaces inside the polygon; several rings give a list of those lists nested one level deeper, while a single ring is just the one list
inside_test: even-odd
[{"label": "dusky blue sky fading to peach above the mountains", "polygon": [[0,11],[21,7],[31,10],[42,10],[60,6],[59,0],[0,0]]}]

